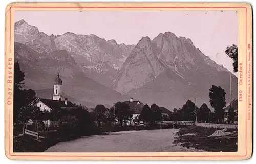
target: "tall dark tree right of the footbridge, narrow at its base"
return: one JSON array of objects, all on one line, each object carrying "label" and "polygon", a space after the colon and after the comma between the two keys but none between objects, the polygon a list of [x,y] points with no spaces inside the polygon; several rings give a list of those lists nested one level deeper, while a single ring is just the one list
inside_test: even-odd
[{"label": "tall dark tree right of the footbridge, narrow at its base", "polygon": [[225,95],[226,92],[220,86],[212,85],[212,87],[209,89],[210,105],[215,110],[215,118],[217,119],[217,122],[221,123],[224,121],[223,107],[226,106]]}]

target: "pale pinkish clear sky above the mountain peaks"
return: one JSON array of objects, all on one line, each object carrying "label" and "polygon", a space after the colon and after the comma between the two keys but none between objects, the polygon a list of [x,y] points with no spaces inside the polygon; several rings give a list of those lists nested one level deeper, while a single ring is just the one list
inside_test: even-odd
[{"label": "pale pinkish clear sky above the mountain peaks", "polygon": [[137,44],[142,36],[152,40],[172,32],[190,38],[202,53],[233,72],[225,49],[238,44],[236,11],[16,11],[14,17],[48,35],[95,34],[118,44]]}]

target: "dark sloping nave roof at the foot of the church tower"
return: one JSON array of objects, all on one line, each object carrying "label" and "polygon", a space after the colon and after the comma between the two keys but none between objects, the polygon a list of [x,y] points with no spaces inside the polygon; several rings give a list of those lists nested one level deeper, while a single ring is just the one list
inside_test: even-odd
[{"label": "dark sloping nave roof at the foot of the church tower", "polygon": [[41,101],[42,103],[44,103],[51,109],[75,107],[75,105],[73,103],[71,103],[70,101],[67,101],[67,105],[65,104],[65,101],[60,101],[60,100],[39,98],[39,101]]}]

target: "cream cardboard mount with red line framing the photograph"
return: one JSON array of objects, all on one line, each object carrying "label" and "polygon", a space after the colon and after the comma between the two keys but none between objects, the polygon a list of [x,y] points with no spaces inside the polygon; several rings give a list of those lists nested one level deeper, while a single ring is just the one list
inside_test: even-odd
[{"label": "cream cardboard mount with red line framing the photograph", "polygon": [[[14,63],[14,12],[20,10],[33,10],[33,11],[42,11],[42,10],[143,10],[143,11],[173,11],[173,10],[237,10],[238,19],[239,19],[239,34],[238,34],[238,45],[239,45],[239,54],[246,54],[245,56],[239,55],[239,62],[245,61],[245,70],[243,67],[243,85],[239,85],[240,88],[245,88],[243,91],[243,103],[238,104],[239,109],[246,109],[244,114],[241,113],[241,110],[238,111],[239,115],[239,124],[238,129],[245,128],[245,137],[241,140],[238,139],[238,152],[166,152],[167,154],[187,154],[187,155],[164,155],[166,153],[14,153],[12,151],[12,130],[13,129],[13,86],[11,81],[13,81],[13,76],[9,76],[9,72],[13,73],[13,63]],[[154,159],[154,160],[202,160],[202,159],[224,159],[224,160],[234,160],[234,159],[248,159],[251,157],[252,153],[252,79],[248,82],[247,76],[250,74],[252,77],[252,11],[251,6],[246,3],[11,3],[6,7],[6,22],[5,22],[5,149],[6,156],[9,159],[29,159],[29,160],[145,160],[145,159]],[[241,22],[242,21],[242,22]],[[243,21],[245,21],[244,27],[242,27]],[[242,27],[242,29],[241,29]],[[245,40],[241,40],[241,38]],[[242,52],[243,51],[243,52]],[[247,63],[248,62],[248,63]],[[249,72],[248,72],[249,70]],[[13,74],[12,74],[13,75]],[[239,75],[238,75],[239,76]],[[244,78],[244,76],[246,76]],[[238,77],[238,81],[241,78]],[[248,89],[250,93],[248,94]],[[249,97],[248,97],[249,96]],[[10,98],[10,99],[9,99]],[[245,101],[244,101],[245,100]],[[10,103],[9,103],[10,102]],[[242,111],[243,112],[243,111]],[[244,115],[245,118],[241,118],[240,115]],[[245,122],[242,124],[242,121]],[[238,136],[244,133],[241,130],[238,130]],[[239,151],[239,147],[243,147],[245,142],[245,149]],[[67,154],[67,155],[63,155]],[[70,155],[74,154],[74,155]],[[90,155],[82,155],[90,154]],[[95,154],[95,155],[92,155]],[[99,155],[96,155],[99,154]],[[102,154],[102,155],[100,155]],[[113,154],[113,155],[103,155],[103,154]],[[114,155],[115,154],[115,155]],[[117,155],[120,154],[120,155]],[[125,155],[123,155],[125,154]],[[129,155],[130,154],[130,155]],[[144,154],[144,155],[142,155]],[[146,155],[148,154],[148,155]],[[155,155],[153,155],[155,154]],[[161,155],[156,155],[161,154]],[[194,155],[199,154],[199,155]],[[212,155],[209,155],[212,154]],[[34,158],[36,157],[36,158]],[[38,158],[41,157],[41,158]],[[49,158],[56,157],[56,158]],[[67,158],[60,158],[67,157]],[[79,158],[77,158],[79,157]]]}]

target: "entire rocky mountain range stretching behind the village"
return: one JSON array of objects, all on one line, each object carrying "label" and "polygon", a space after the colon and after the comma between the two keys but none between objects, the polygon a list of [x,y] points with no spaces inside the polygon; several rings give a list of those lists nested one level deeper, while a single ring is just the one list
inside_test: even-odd
[{"label": "entire rocky mountain range stretching behind the village", "polygon": [[211,85],[224,88],[230,100],[230,76],[232,98],[237,98],[236,76],[205,56],[190,39],[170,32],[125,45],[71,32],[49,36],[25,20],[15,22],[14,29],[15,60],[26,74],[26,87],[44,90],[45,94],[36,91],[39,97],[51,98],[59,70],[66,96],[89,108],[112,106],[130,96],[169,110],[195,98],[198,106],[209,106]]}]

